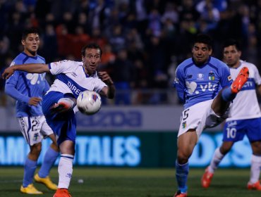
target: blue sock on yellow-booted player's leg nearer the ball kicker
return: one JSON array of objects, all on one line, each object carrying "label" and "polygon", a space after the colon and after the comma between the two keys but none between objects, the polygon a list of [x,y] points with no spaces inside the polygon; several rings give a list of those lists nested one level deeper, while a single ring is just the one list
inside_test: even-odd
[{"label": "blue sock on yellow-booted player's leg nearer the ball kicker", "polygon": [[58,152],[54,151],[54,149],[49,146],[47,152],[44,155],[44,161],[42,163],[42,166],[40,167],[40,170],[38,172],[40,178],[45,178],[48,176],[51,170],[51,166],[54,165],[54,162],[56,161],[58,154]]}]

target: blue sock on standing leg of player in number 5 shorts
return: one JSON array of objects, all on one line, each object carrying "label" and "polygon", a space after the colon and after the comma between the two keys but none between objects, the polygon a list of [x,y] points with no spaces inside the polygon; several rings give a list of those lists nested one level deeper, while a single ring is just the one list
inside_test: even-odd
[{"label": "blue sock on standing leg of player in number 5 shorts", "polygon": [[186,193],[188,190],[187,184],[188,179],[188,162],[186,164],[180,165],[176,161],[176,181],[178,183],[178,190],[181,193]]}]

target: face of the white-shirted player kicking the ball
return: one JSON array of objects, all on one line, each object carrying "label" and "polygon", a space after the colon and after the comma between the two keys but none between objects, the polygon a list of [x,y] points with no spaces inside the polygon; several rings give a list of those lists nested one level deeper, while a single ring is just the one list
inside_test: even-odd
[{"label": "face of the white-shirted player kicking the ball", "polygon": [[101,51],[99,49],[86,49],[85,56],[82,56],[82,59],[87,73],[92,75],[101,61]]}]

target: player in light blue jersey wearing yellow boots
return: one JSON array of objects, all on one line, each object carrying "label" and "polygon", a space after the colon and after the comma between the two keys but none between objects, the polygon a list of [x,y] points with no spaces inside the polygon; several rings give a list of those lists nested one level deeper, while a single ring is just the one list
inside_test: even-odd
[{"label": "player in light blue jersey wearing yellow boots", "polygon": [[[28,29],[22,35],[23,52],[13,60],[13,64],[45,63],[44,58],[37,55],[40,44],[39,32],[36,29]],[[45,80],[45,73],[28,73],[18,71],[6,80],[5,92],[16,99],[16,117],[25,140],[30,146],[30,152],[25,160],[23,184],[20,187],[22,193],[42,194],[32,184],[37,160],[42,149],[42,140],[47,136],[52,144],[44,155],[44,161],[40,171],[35,174],[35,181],[45,184],[48,189],[56,190],[57,185],[51,182],[49,171],[59,155],[54,132],[47,125],[42,113],[42,96],[49,89]]]}]

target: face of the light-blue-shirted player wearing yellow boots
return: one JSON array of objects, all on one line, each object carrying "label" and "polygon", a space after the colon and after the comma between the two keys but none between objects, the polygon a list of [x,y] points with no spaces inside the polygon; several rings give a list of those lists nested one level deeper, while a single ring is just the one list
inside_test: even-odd
[{"label": "face of the light-blue-shirted player wearing yellow boots", "polygon": [[24,52],[28,54],[28,56],[36,56],[40,44],[39,34],[28,34],[26,39],[22,39],[22,44]]}]

